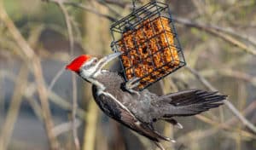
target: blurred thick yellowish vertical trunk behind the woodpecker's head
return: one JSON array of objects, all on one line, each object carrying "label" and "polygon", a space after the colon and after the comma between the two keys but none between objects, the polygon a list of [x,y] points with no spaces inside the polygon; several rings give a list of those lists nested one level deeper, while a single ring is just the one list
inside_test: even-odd
[{"label": "blurred thick yellowish vertical trunk behind the woodpecker's head", "polygon": [[[108,9],[102,7],[99,3],[94,1],[90,2],[95,9],[103,14],[108,13]],[[84,38],[83,43],[86,49],[85,53],[90,55],[104,55],[109,49],[110,38],[109,38],[109,22],[108,20],[91,14],[90,12],[84,12]],[[109,52],[108,52],[109,53]],[[95,150],[96,149],[96,127],[98,107],[91,95],[91,88],[89,84],[86,84],[84,88],[84,100],[86,100],[88,111],[86,113],[86,123],[84,129],[84,150]],[[104,138],[102,138],[104,139]],[[105,138],[106,139],[106,138]],[[103,142],[108,143],[108,142]]]}]

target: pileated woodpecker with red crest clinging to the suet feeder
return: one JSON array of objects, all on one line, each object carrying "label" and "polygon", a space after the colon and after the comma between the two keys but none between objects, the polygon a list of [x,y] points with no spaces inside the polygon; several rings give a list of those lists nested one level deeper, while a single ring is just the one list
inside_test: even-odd
[{"label": "pileated woodpecker with red crest clinging to the suet feeder", "polygon": [[160,145],[160,141],[175,141],[154,130],[154,122],[161,119],[183,128],[173,117],[205,112],[222,105],[226,98],[226,95],[218,95],[218,92],[201,89],[189,89],[168,95],[155,95],[148,89],[135,91],[132,89],[133,80],[124,84],[125,80],[119,73],[103,69],[103,66],[119,55],[120,53],[114,53],[101,60],[90,55],[80,55],[66,68],[92,84],[94,99],[104,113],[138,134],[148,137],[161,149],[164,147]]}]

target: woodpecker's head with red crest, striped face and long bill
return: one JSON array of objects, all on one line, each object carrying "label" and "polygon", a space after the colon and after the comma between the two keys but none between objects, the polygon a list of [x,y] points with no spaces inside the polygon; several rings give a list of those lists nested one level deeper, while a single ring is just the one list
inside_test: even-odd
[{"label": "woodpecker's head with red crest, striped face and long bill", "polygon": [[121,53],[114,53],[106,55],[100,60],[91,55],[80,55],[71,61],[71,63],[66,66],[66,69],[78,73],[83,78],[94,77],[98,72],[101,72],[103,66],[120,54]]}]

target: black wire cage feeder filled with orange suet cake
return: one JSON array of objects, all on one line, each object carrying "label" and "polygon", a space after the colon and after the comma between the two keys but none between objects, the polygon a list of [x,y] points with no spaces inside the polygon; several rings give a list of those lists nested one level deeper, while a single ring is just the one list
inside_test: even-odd
[{"label": "black wire cage feeder filled with orange suet cake", "polygon": [[119,57],[125,81],[137,78],[143,90],[185,66],[171,10],[166,3],[150,2],[134,9],[110,28],[111,47]]}]

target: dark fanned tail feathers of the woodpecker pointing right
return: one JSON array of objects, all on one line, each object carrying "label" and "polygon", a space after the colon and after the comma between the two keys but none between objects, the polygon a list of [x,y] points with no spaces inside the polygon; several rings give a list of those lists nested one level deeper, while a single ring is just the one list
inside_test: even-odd
[{"label": "dark fanned tail feathers of the woodpecker pointing right", "polygon": [[[191,116],[205,112],[211,108],[223,104],[227,95],[219,95],[218,92],[209,92],[201,89],[189,89],[177,93],[160,96],[161,101],[172,104],[166,107],[164,118],[174,116]],[[169,110],[168,110],[169,109]]]}]

